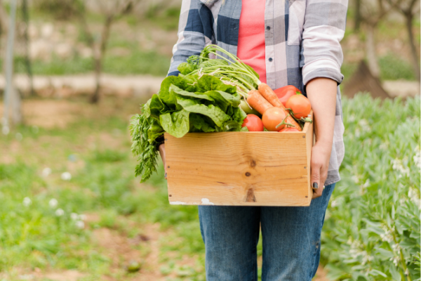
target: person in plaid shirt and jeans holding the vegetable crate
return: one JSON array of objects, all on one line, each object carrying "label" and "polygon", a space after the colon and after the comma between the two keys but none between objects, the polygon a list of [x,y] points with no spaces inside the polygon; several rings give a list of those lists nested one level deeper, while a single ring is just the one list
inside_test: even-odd
[{"label": "person in plaid shirt and jeans holding the vegetable crate", "polygon": [[[272,89],[294,85],[314,112],[310,207],[199,206],[206,280],[312,280],[319,266],[326,207],[345,154],[338,84],[347,0],[183,0],[168,75],[204,46],[238,55]],[[164,145],[160,146],[165,161]],[[165,166],[165,165],[164,165]],[[326,188],[325,188],[326,186]]]}]

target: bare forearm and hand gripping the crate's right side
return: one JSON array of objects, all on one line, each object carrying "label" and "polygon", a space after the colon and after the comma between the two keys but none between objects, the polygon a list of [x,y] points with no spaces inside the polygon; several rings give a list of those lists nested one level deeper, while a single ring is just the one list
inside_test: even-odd
[{"label": "bare forearm and hand gripping the crate's right side", "polygon": [[328,176],[330,152],[335,127],[336,81],[315,78],[307,84],[307,97],[312,104],[316,143],[312,148],[311,182],[313,197],[321,197]]}]

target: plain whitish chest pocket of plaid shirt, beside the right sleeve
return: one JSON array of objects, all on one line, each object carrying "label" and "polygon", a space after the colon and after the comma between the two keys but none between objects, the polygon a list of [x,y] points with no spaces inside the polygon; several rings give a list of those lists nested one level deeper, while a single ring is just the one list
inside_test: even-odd
[{"label": "plain whitish chest pocket of plaid shirt, beside the right sleeve", "polygon": [[305,0],[289,0],[288,45],[301,44],[305,4]]}]

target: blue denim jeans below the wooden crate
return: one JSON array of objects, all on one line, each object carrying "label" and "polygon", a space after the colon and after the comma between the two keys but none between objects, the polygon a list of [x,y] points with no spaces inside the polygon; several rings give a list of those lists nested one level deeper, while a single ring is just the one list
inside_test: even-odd
[{"label": "blue denim jeans below the wooden crate", "polygon": [[320,235],[335,183],[309,207],[199,206],[207,281],[310,281],[320,259]]}]

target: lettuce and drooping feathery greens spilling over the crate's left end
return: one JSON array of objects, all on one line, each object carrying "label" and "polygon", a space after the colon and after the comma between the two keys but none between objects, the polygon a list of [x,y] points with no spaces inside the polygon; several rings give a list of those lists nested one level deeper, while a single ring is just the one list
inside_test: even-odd
[{"label": "lettuce and drooping feathery greens spilling over the crate's left end", "polygon": [[[220,60],[217,63],[224,63]],[[212,65],[210,61],[206,61]],[[227,63],[224,63],[227,64]],[[240,104],[237,87],[207,74],[188,74],[198,65],[179,66],[178,77],[166,77],[131,123],[132,152],[140,162],[136,176],[146,181],[156,171],[156,138],[164,132],[176,138],[190,132],[245,131],[241,127],[246,113]],[[188,75],[187,75],[188,74]]]}]

